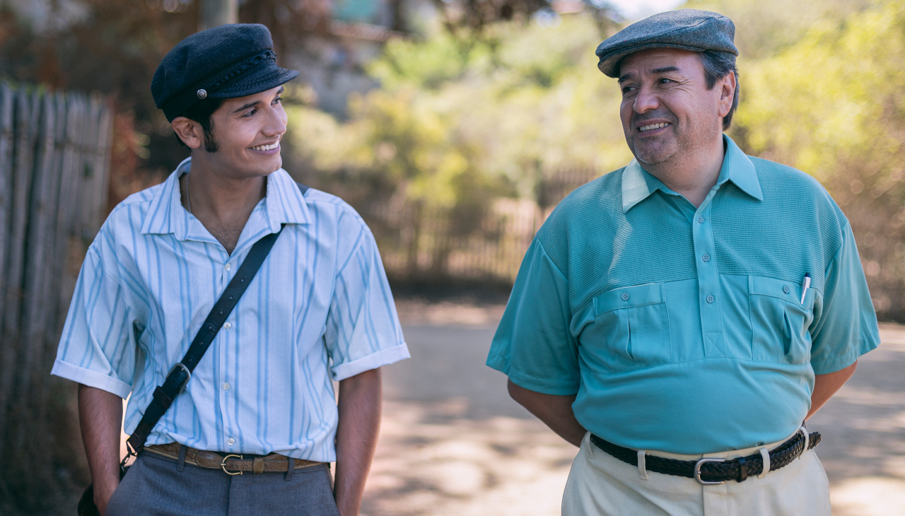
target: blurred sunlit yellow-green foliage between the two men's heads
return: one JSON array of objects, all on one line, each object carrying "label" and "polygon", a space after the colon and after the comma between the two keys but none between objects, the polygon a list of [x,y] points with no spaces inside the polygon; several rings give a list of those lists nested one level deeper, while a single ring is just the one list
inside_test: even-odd
[{"label": "blurred sunlit yellow-green foliage between the two men's heads", "polygon": [[495,25],[472,43],[446,33],[390,43],[371,67],[383,88],[353,100],[348,122],[301,108],[291,134],[316,167],[367,169],[429,204],[462,202],[452,187],[462,175],[490,194],[533,196],[543,170],[631,158],[618,89],[596,69],[599,40],[576,15],[556,28]]}]

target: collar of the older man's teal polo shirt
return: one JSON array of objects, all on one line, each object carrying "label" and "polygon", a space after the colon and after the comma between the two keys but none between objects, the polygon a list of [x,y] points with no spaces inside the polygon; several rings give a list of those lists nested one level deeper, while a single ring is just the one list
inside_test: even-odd
[{"label": "collar of the older man's teal polo shirt", "polygon": [[[738,148],[738,145],[728,136],[723,135],[723,141],[726,143],[726,156],[723,158],[723,166],[719,169],[719,178],[717,186],[721,186],[726,181],[756,198],[758,201],[764,200],[764,194],[760,189],[760,181],[757,179],[757,170],[754,163],[745,156],[745,153]],[[634,205],[637,205],[653,192],[662,190],[663,192],[672,194],[667,186],[663,185],[660,179],[653,177],[647,170],[638,163],[637,159],[633,159],[628,167],[623,170],[623,213],[628,213]]]}]

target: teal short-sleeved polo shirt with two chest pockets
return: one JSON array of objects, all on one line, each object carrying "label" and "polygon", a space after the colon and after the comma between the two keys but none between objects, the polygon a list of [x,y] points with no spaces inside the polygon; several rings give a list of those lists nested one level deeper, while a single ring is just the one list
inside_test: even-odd
[{"label": "teal short-sleeved polo shirt with two chest pockets", "polygon": [[795,432],[814,375],[877,347],[876,314],[824,187],[725,144],[698,208],[636,161],[567,196],[529,247],[487,365],[576,395],[581,425],[634,449],[706,454]]}]

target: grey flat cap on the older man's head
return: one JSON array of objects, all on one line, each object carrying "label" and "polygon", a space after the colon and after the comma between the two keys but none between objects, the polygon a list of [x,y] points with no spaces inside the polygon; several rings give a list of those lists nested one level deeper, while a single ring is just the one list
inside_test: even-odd
[{"label": "grey flat cap on the older man's head", "polygon": [[732,43],[735,24],[719,13],[680,9],[654,14],[606,38],[597,47],[597,68],[609,77],[619,74],[619,62],[630,53],[651,48],[681,48],[691,52],[728,52],[738,55]]}]

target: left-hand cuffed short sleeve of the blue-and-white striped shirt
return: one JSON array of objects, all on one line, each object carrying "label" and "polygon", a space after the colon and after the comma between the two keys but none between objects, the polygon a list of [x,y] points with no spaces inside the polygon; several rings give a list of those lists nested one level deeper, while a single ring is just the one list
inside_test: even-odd
[{"label": "left-hand cuffed short sleeve of the blue-and-white striped shirt", "polygon": [[136,345],[120,282],[95,245],[81,264],[52,375],[125,399],[132,391]]}]

